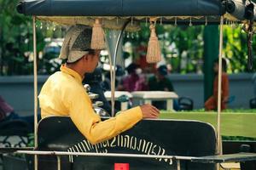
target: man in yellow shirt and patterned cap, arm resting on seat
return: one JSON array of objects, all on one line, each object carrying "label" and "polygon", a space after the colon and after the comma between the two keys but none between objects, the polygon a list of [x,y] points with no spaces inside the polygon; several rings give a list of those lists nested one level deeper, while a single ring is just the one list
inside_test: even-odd
[{"label": "man in yellow shirt and patterned cap, arm resting on seat", "polygon": [[84,74],[96,69],[101,51],[90,48],[91,34],[86,26],[73,26],[67,31],[60,54],[66,64],[44,83],[38,98],[42,118],[70,116],[84,137],[96,144],[112,139],[143,118],[158,117],[159,111],[152,105],[142,105],[101,121],[82,84]]}]

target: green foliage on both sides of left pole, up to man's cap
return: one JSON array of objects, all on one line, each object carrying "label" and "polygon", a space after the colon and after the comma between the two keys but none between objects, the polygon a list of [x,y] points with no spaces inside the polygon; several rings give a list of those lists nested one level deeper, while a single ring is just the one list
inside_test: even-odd
[{"label": "green foliage on both sides of left pole, up to man's cap", "polygon": [[[0,0],[0,75],[33,73],[32,17],[17,13],[15,8],[18,2],[18,0]],[[44,28],[39,30],[40,23],[37,22],[37,25],[37,51],[38,54],[42,54],[46,45],[44,38],[59,37],[61,30],[53,31],[53,28],[45,23]],[[55,57],[48,54],[45,59],[38,58],[38,73],[51,73],[49,59]]]}]

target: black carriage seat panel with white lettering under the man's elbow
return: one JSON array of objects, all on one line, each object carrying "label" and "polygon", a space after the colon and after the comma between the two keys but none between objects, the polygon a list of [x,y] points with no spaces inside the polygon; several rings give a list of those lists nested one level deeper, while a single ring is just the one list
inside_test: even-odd
[{"label": "black carriage seat panel with white lettering under the man's elbow", "polygon": [[[44,118],[38,124],[38,150],[212,156],[216,153],[216,134],[214,128],[205,122],[143,120],[113,139],[92,145],[79,133],[69,117],[51,116]],[[129,163],[131,169],[140,170],[177,168],[175,160],[166,159],[61,156],[61,169],[113,169],[114,163],[120,162]],[[57,169],[56,157],[39,156],[38,169]],[[213,170],[215,165],[181,161],[181,169]]]}]

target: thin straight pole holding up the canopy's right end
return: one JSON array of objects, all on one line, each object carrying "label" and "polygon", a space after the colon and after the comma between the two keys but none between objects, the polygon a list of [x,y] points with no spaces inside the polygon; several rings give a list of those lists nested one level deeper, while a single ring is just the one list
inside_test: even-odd
[{"label": "thin straight pole holding up the canopy's right end", "polygon": [[217,123],[217,150],[218,155],[222,154],[220,135],[220,113],[221,113],[221,82],[222,82],[222,49],[223,49],[223,24],[224,17],[220,18],[219,26],[219,49],[218,49],[218,123]]}]

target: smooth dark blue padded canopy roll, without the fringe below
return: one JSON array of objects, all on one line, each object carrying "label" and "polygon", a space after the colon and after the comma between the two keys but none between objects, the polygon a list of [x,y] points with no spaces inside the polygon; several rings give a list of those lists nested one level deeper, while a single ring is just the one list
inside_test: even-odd
[{"label": "smooth dark blue padded canopy roll, without the fringe below", "polygon": [[20,14],[36,16],[210,16],[221,0],[23,0]]}]

